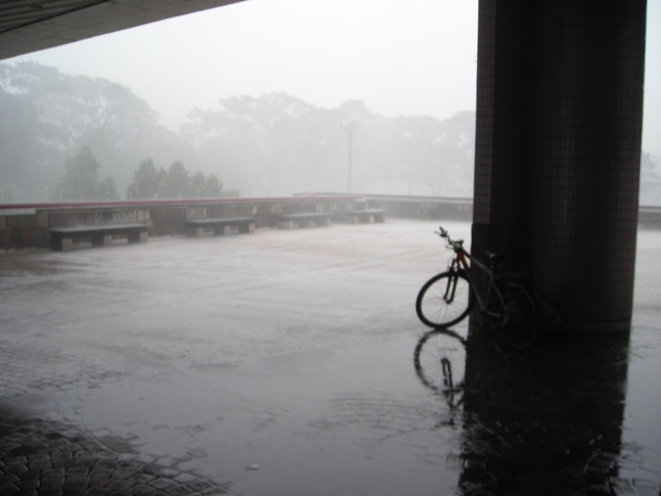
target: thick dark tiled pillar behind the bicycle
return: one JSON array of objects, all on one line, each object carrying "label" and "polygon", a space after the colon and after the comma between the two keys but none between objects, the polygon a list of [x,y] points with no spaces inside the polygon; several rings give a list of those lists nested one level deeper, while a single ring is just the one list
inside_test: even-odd
[{"label": "thick dark tiled pillar behind the bicycle", "polygon": [[644,35],[644,0],[480,1],[472,249],[576,328],[630,325]]}]

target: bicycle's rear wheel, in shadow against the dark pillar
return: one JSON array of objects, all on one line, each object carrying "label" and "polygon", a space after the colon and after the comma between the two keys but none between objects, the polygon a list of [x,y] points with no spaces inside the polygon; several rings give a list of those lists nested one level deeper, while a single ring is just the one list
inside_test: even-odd
[{"label": "bicycle's rear wheel, in shadow against the dark pillar", "polygon": [[500,288],[505,303],[505,319],[498,326],[502,341],[516,349],[525,349],[534,343],[539,320],[534,300],[518,282],[507,282]]}]

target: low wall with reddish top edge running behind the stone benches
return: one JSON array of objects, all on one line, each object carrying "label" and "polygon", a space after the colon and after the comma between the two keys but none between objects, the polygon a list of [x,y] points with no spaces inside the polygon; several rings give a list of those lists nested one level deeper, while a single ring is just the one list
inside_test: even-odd
[{"label": "low wall with reddish top edge running behind the stone benches", "polygon": [[[113,202],[76,205],[0,205],[0,250],[47,248],[48,229],[101,223],[149,222],[150,236],[180,236],[187,218],[254,216],[258,228],[277,227],[279,214],[342,213],[354,208],[383,208],[386,217],[470,222],[472,198],[420,196],[305,195],[293,198],[220,201]],[[661,207],[641,207],[639,226],[661,227]]]}]

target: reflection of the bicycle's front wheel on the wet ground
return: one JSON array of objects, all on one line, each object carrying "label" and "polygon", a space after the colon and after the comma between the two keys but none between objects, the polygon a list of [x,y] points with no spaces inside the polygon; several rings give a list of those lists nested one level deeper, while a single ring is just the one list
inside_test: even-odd
[{"label": "reflection of the bicycle's front wheel on the wet ground", "polygon": [[418,342],[413,365],[418,377],[427,388],[440,392],[454,408],[462,402],[466,342],[449,330],[430,331]]}]

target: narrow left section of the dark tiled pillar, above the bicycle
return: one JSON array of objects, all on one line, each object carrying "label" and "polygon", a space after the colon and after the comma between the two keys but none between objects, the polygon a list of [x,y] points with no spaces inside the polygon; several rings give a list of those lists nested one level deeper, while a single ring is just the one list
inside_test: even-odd
[{"label": "narrow left section of the dark tiled pillar, above the bicycle", "polygon": [[479,4],[477,125],[473,252],[508,254],[508,265],[525,267],[524,147],[528,101],[525,39],[528,1],[483,0]]}]

